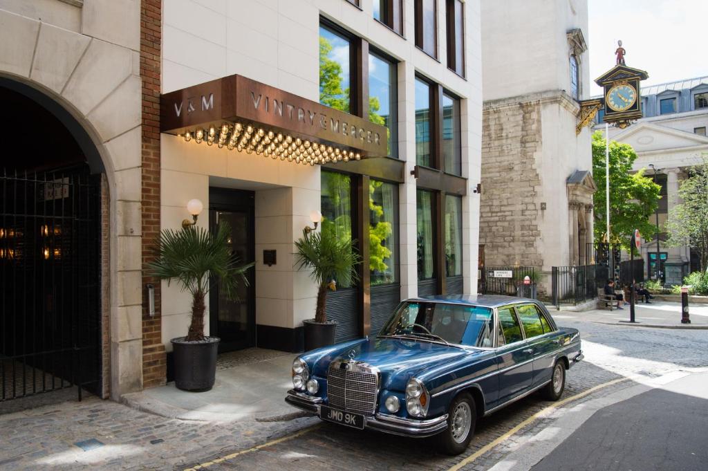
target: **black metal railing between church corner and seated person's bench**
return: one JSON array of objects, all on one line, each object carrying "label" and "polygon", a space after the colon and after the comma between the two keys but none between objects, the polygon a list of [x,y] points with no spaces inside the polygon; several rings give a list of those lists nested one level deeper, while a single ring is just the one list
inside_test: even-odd
[{"label": "black metal railing between church corner and seated person's bench", "polygon": [[597,265],[554,266],[551,272],[553,305],[579,305],[598,297],[607,271]]}]

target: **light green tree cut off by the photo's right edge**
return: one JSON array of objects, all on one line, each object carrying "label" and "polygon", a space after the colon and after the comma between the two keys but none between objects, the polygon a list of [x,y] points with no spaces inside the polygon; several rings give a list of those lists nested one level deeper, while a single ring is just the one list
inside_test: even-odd
[{"label": "light green tree cut off by the photo's right edge", "polygon": [[668,244],[688,244],[697,251],[704,271],[708,268],[708,157],[690,168],[688,175],[678,190],[682,201],[668,215]]}]

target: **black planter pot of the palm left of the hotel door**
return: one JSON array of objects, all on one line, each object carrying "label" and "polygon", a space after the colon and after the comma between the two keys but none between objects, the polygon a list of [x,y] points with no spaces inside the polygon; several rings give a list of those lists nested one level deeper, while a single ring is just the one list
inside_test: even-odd
[{"label": "black planter pot of the palm left of the hotel door", "polygon": [[202,341],[186,341],[185,337],[172,339],[174,352],[175,386],[185,391],[208,391],[214,385],[217,371],[218,337]]}]

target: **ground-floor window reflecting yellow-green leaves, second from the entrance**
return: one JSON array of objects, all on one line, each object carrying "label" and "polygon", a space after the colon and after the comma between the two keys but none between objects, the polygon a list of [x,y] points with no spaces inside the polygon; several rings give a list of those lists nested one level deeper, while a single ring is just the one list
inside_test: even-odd
[{"label": "ground-floor window reflecting yellow-green leaves, second from the entrance", "polygon": [[398,281],[398,186],[369,181],[369,268],[371,285]]}]

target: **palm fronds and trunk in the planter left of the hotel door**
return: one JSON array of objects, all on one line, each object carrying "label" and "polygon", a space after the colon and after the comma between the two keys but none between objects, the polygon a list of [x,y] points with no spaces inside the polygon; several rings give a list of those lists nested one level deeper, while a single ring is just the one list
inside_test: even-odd
[{"label": "palm fronds and trunk in the planter left of the hotel door", "polygon": [[253,263],[239,265],[238,257],[229,249],[231,227],[220,222],[215,234],[203,227],[163,229],[157,239],[156,259],[148,263],[153,276],[177,280],[183,291],[193,297],[192,322],[187,340],[204,339],[204,298],[211,288],[210,278],[221,283],[229,299],[237,298],[241,283],[248,285],[246,270]]}]

